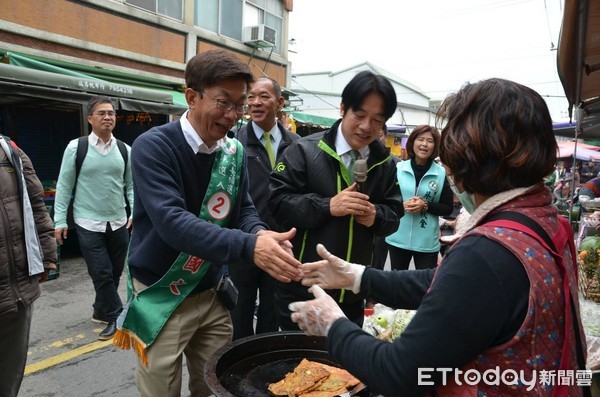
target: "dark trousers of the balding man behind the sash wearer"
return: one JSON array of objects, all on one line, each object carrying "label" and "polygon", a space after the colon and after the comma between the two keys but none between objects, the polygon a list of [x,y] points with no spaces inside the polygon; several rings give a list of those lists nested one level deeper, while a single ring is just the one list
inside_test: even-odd
[{"label": "dark trousers of the balding man behind the sash wearer", "polygon": [[238,303],[231,311],[233,340],[254,335],[254,308],[258,292],[256,334],[279,330],[273,294],[275,280],[259,267],[251,264],[229,266],[229,275],[238,289]]}]

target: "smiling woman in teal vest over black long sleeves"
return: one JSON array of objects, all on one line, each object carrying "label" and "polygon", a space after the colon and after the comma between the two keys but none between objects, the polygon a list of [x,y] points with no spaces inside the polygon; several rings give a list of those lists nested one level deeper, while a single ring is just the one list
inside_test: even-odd
[{"label": "smiling woman in teal vest over black long sleeves", "polygon": [[411,259],[415,268],[437,266],[440,251],[439,217],[452,213],[452,190],[438,155],[440,133],[429,125],[417,126],[408,137],[409,160],[398,163],[398,184],[404,201],[404,216],[398,230],[385,241],[390,245],[393,270],[407,270]]}]

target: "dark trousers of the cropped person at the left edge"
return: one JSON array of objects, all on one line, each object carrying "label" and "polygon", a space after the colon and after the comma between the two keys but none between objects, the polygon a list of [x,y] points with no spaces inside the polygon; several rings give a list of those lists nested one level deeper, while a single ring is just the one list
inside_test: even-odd
[{"label": "dark trousers of the cropped person at the left edge", "polygon": [[0,396],[16,397],[23,381],[33,304],[0,317]]}]

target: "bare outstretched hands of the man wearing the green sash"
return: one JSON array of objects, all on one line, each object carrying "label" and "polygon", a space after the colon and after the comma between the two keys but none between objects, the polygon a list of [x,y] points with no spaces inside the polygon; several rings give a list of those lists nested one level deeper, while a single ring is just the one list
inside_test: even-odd
[{"label": "bare outstretched hands of the man wearing the green sash", "polygon": [[289,241],[295,234],[295,228],[285,233],[259,232],[253,257],[256,266],[281,282],[300,281],[302,278],[301,263],[294,258]]}]

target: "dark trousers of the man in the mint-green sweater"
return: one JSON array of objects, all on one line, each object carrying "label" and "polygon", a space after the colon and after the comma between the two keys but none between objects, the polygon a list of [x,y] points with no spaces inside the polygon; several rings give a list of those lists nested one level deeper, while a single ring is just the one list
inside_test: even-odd
[{"label": "dark trousers of the man in the mint-green sweater", "polygon": [[118,288],[127,256],[129,232],[125,226],[112,230],[108,225],[105,233],[77,226],[77,239],[96,291],[94,310],[109,322],[115,321],[123,308]]}]

